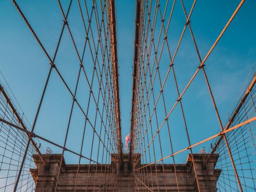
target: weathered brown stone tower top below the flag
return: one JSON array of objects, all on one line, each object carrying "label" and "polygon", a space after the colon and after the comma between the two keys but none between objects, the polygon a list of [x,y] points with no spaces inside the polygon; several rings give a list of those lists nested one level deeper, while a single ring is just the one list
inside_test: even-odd
[{"label": "weathered brown stone tower top below the flag", "polygon": [[[207,155],[207,154],[206,154]],[[138,154],[140,156],[140,154]],[[34,155],[37,169],[30,172],[36,182],[35,191],[54,191],[61,154],[48,156],[49,168],[45,168],[37,155]],[[175,178],[174,164],[152,164],[139,171],[128,169],[128,154],[124,154],[124,167],[116,169],[116,154],[111,155],[111,164],[66,164],[62,162],[60,177],[58,180],[58,191],[124,191],[130,192],[134,189],[145,189],[153,191],[178,191],[177,180],[180,191],[197,191],[191,155],[188,155],[186,164],[175,164],[177,180]],[[195,169],[201,192],[216,191],[216,183],[221,170],[214,169],[219,155],[214,154],[205,168],[202,166],[203,155],[194,154]],[[140,166],[144,166],[141,164]],[[139,174],[140,173],[140,174]],[[77,180],[76,180],[77,178]],[[145,185],[142,184],[145,183]],[[148,188],[147,188],[148,187]]]}]

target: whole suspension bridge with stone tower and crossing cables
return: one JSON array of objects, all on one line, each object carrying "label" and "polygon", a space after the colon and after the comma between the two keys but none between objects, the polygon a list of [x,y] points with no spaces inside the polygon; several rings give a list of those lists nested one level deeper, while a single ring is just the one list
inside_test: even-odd
[{"label": "whole suspension bridge with stone tower and crossing cables", "polygon": [[[194,35],[196,0],[134,2],[132,78],[127,80],[132,82],[132,94],[131,101],[125,101],[131,105],[130,127],[125,128],[130,132],[127,150],[121,122],[120,89],[126,85],[119,79],[122,39],[118,39],[116,3],[52,1],[58,8],[59,31],[55,45],[49,47],[34,29],[27,7],[12,0],[20,22],[43,54],[47,76],[32,121],[22,111],[19,94],[13,94],[8,78],[1,78],[0,191],[256,191],[253,63],[241,79],[242,88],[236,87],[239,97],[226,119],[221,118],[207,70],[209,57],[236,16],[244,13],[239,10],[246,1],[233,3],[233,11],[205,54]],[[182,18],[178,35],[171,27],[177,14]],[[188,41],[196,61],[180,70],[178,58],[187,53],[179,51]],[[70,49],[64,53],[63,47]],[[67,57],[60,60],[61,56]],[[76,62],[63,65],[69,56]],[[211,104],[197,103],[199,93],[190,91],[194,85],[203,87]],[[51,93],[57,96],[46,111]],[[66,110],[62,105],[67,105]],[[199,129],[207,118],[203,108],[211,112],[211,122]],[[53,120],[64,111],[67,115],[59,119],[63,126],[58,127]]]}]

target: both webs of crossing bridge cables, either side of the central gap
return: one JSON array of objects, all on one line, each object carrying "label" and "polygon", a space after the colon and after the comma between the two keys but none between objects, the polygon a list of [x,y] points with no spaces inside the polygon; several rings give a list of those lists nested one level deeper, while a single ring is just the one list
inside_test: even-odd
[{"label": "both webs of crossing bridge cables, either side of the central gap", "polygon": [[[41,143],[46,143],[60,150],[60,165],[65,164],[65,155],[73,155],[77,160],[74,191],[82,190],[81,186],[93,191],[118,191],[118,172],[123,169],[123,151],[121,135],[121,109],[119,105],[119,80],[117,60],[117,35],[115,18],[115,1],[69,1],[65,10],[64,3],[57,1],[62,16],[61,30],[53,56],[43,45],[43,41],[37,36],[33,26],[29,22],[29,16],[23,13],[19,4],[12,0],[17,11],[25,21],[31,34],[36,39],[39,47],[49,60],[47,66],[47,78],[44,82],[42,95],[38,99],[38,106],[30,124],[23,114],[15,96],[10,91],[6,82],[1,82],[0,87],[0,190],[3,191],[34,191],[36,187],[33,171],[36,170],[35,162],[41,161],[47,168],[50,161],[51,150],[46,151]],[[180,8],[184,18],[184,27],[179,36],[177,45],[173,44],[171,22],[177,9],[177,1],[170,3],[136,0],[135,24],[134,24],[134,63],[133,63],[133,87],[131,109],[131,143],[129,151],[129,168],[134,176],[135,191],[169,191],[171,187],[177,191],[182,190],[182,183],[178,176],[177,162],[180,155],[189,154],[190,168],[194,174],[193,190],[203,191],[201,177],[206,180],[209,191],[252,191],[255,185],[255,73],[250,73],[251,79],[242,97],[239,99],[234,112],[230,115],[225,126],[220,118],[219,109],[215,102],[214,93],[206,73],[206,61],[217,46],[219,40],[228,29],[238,11],[241,9],[242,0],[228,20],[226,26],[220,32],[218,38],[207,52],[205,57],[199,52],[193,33],[191,15],[196,7],[196,0],[190,6],[189,11],[180,0]],[[70,10],[79,11],[79,19],[83,26],[84,42],[82,51],[79,42],[75,38],[73,23],[69,22]],[[25,16],[26,15],[26,16]],[[77,61],[77,73],[75,85],[70,86],[68,78],[63,74],[61,63],[58,60],[62,41],[67,38],[63,35],[67,31],[71,40],[72,50]],[[198,64],[191,78],[186,82],[185,88],[180,89],[177,60],[182,40],[185,33],[189,32],[198,57]],[[175,42],[175,41],[174,41]],[[173,54],[172,54],[173,52]],[[175,62],[174,62],[174,59]],[[175,65],[174,65],[175,63]],[[74,64],[74,63],[73,63]],[[210,63],[209,63],[210,64]],[[75,65],[75,64],[74,64]],[[212,108],[219,127],[216,134],[211,137],[193,143],[191,132],[196,131],[190,127],[188,114],[186,113],[186,93],[196,81],[196,77],[202,74]],[[63,140],[41,136],[35,131],[43,129],[38,127],[38,118],[42,115],[42,106],[47,100],[47,90],[52,84],[51,78],[56,75],[65,87],[69,98],[69,115],[65,128],[62,128]],[[198,82],[198,80],[197,80]],[[204,82],[199,82],[203,84]],[[84,85],[85,84],[85,85]],[[182,82],[183,84],[183,82]],[[122,86],[122,85],[121,85]],[[173,90],[171,89],[173,88]],[[81,90],[87,97],[82,97]],[[84,99],[86,102],[84,104]],[[78,111],[78,112],[77,112]],[[83,126],[80,128],[78,151],[69,146],[71,133],[77,131],[72,126],[74,116],[83,116]],[[178,148],[177,138],[173,138],[173,116],[181,120],[182,129],[187,146]],[[202,114],[203,116],[203,114]],[[178,129],[175,127],[175,129]],[[207,129],[207,128],[205,128]],[[214,177],[217,186],[212,186],[212,179],[207,170],[203,170],[203,176],[198,173],[195,164],[195,148],[209,144],[209,154],[203,154],[203,165],[209,163],[214,155],[218,155],[218,161],[214,164]],[[113,154],[116,154],[113,156]],[[111,161],[112,158],[112,161]],[[83,164],[89,164],[87,177],[81,179]],[[173,185],[170,186],[165,165],[173,166]],[[159,170],[161,170],[159,172]],[[61,180],[61,166],[58,168],[54,191],[58,191]],[[91,172],[95,172],[91,178]],[[90,174],[90,177],[89,177]],[[99,177],[100,175],[100,177]],[[200,177],[200,178],[199,178]],[[42,179],[42,178],[41,178]],[[94,185],[91,186],[91,180]],[[44,188],[47,176],[40,182]],[[73,190],[73,189],[72,189]]]}]

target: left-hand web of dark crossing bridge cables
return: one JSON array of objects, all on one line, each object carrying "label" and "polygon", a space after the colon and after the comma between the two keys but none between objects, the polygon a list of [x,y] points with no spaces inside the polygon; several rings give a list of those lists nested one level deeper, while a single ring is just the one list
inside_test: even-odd
[{"label": "left-hand web of dark crossing bridge cables", "polygon": [[[2,131],[2,134],[7,136],[5,137],[6,139],[2,141],[3,145],[1,145],[1,147],[3,146],[3,153],[1,151],[1,190],[33,191],[35,189],[34,179],[29,173],[29,171],[31,172],[31,168],[35,168],[35,164],[33,162],[37,157],[35,154],[38,154],[36,150],[38,147],[34,145],[33,138],[46,141],[52,146],[60,148],[60,164],[64,162],[65,153],[74,154],[79,158],[74,191],[77,190],[78,184],[81,185],[81,180],[79,180],[79,169],[81,168],[81,163],[85,160],[87,160],[86,162],[89,164],[88,174],[90,169],[92,169],[91,164],[96,164],[95,179],[97,173],[102,173],[102,177],[97,179],[99,179],[100,182],[99,186],[105,185],[102,187],[103,190],[116,190],[116,169],[120,166],[120,164],[122,164],[122,158],[121,155],[119,155],[114,164],[111,164],[111,154],[122,154],[122,146],[120,127],[121,120],[120,115],[116,115],[120,114],[120,109],[119,98],[117,98],[117,96],[119,97],[119,95],[117,95],[118,82],[116,82],[118,81],[118,67],[116,63],[117,48],[115,45],[116,39],[113,39],[116,31],[113,31],[113,24],[115,23],[112,21],[112,19],[115,19],[113,18],[113,13],[115,12],[114,1],[109,2],[94,0],[91,3],[86,1],[78,1],[76,2],[76,5],[75,2],[70,1],[66,12],[63,9],[62,3],[57,1],[63,18],[63,24],[53,57],[51,57],[50,53],[47,52],[43,43],[29,23],[29,19],[27,19],[25,14],[20,9],[18,3],[14,0],[12,2],[27,24],[27,27],[35,37],[37,43],[42,48],[42,51],[45,53],[50,65],[44,89],[37,107],[33,126],[26,126],[25,129],[25,126],[22,126],[23,119],[15,119],[15,111],[13,111],[13,108],[11,107],[12,101],[6,100],[6,98],[3,97],[3,93],[5,93],[4,87],[1,89],[1,93],[3,94],[1,95],[1,130],[3,129],[4,131]],[[82,52],[78,51],[77,42],[74,39],[72,31],[72,24],[68,22],[70,9],[74,9],[75,6],[79,8],[79,14],[84,28],[85,41]],[[75,90],[72,90],[72,88],[68,85],[68,81],[65,79],[58,66],[61,63],[58,64],[57,55],[59,47],[61,46],[61,41],[63,41],[63,33],[65,30],[68,31],[74,51],[76,52],[77,59],[79,61],[79,70],[77,73]],[[86,61],[84,59],[85,55]],[[90,74],[89,70],[87,69],[90,69]],[[45,93],[47,93],[47,87],[50,84],[50,78],[53,76],[53,73],[59,76],[59,79],[66,87],[66,90],[72,99],[68,124],[65,128],[65,138],[63,139],[63,144],[61,145],[53,140],[41,137],[34,132],[38,116],[41,112],[41,106],[45,102]],[[81,81],[86,82],[84,87],[82,87],[83,84]],[[86,92],[86,94],[89,95],[89,97],[87,97],[86,106],[83,106],[81,100],[77,98],[77,91],[79,91],[79,89],[82,89]],[[83,134],[81,135],[79,153],[68,148],[67,146],[70,131],[74,131],[70,130],[70,124],[74,116],[75,108],[78,108],[79,113],[84,116]],[[91,143],[86,141],[88,138],[85,135],[88,134],[86,133],[88,129],[91,129]],[[84,149],[85,142],[88,146],[86,149]],[[89,151],[90,153],[84,155],[85,150]],[[47,158],[45,155],[39,154],[39,157],[41,157],[43,162],[47,163]],[[9,168],[2,169],[2,165],[8,165]],[[57,182],[55,183],[54,191],[58,190],[60,172],[61,166],[58,170]],[[4,182],[2,182],[2,180],[5,182],[3,186],[2,183]],[[45,185],[45,182],[43,182],[43,185]],[[87,177],[85,183],[86,186],[89,185],[89,177]],[[43,188],[43,186],[39,187]]]}]

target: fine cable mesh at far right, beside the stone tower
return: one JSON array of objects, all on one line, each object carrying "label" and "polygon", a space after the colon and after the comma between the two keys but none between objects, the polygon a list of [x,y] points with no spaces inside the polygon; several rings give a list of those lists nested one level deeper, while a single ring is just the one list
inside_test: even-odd
[{"label": "fine cable mesh at far right, beside the stone tower", "polygon": [[[246,101],[243,104],[243,107],[238,112],[235,120],[232,123],[233,125],[241,121],[250,119],[252,116],[255,115],[255,106],[254,106],[255,88],[252,89],[250,95],[251,96],[247,97]],[[243,96],[241,98],[243,98]],[[239,172],[239,178],[241,178],[241,185],[245,191],[247,190],[250,191],[251,189],[255,190],[255,184],[256,184],[256,181],[254,178],[255,169],[253,168],[254,166],[253,160],[255,155],[253,154],[253,148],[255,147],[254,146],[255,137],[253,138],[252,130],[255,130],[255,123],[249,123],[247,124],[247,126],[244,126],[242,129],[231,131],[226,135],[229,140],[230,150],[234,156],[234,162],[237,167],[237,171]],[[255,131],[254,131],[254,134],[255,134]],[[213,144],[215,144],[216,141],[217,140],[214,140]],[[223,143],[224,142],[222,139],[214,153],[220,154],[220,158],[219,158],[220,163],[217,164],[217,167],[219,169],[222,169],[221,176],[223,177],[223,181],[221,182],[223,182],[225,186],[225,185],[228,185],[226,180],[230,179],[230,176],[227,176],[227,174],[225,173],[229,174],[229,171],[233,171],[232,169],[233,166],[231,164],[231,161],[229,161],[228,158],[225,156],[226,153],[228,152],[227,152],[227,149],[223,147]],[[233,175],[232,177],[235,178],[236,176]],[[232,184],[233,182],[231,183],[231,185]]]}]

